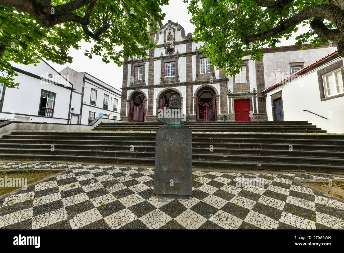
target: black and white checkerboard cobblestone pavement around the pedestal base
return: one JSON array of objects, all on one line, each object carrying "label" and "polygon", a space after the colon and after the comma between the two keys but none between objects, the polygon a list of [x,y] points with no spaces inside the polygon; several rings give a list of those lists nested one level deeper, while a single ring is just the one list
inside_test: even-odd
[{"label": "black and white checkerboard cobblestone pavement around the pedestal base", "polygon": [[314,177],[343,179],[193,171],[189,199],[159,199],[153,168],[74,164],[0,198],[0,229],[344,229],[344,201],[294,181]]}]

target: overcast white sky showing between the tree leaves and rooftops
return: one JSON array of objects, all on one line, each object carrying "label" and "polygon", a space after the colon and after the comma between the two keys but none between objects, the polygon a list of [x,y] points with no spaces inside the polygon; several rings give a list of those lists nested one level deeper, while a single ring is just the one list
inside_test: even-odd
[{"label": "overcast white sky showing between the tree leaves and rooftops", "polygon": [[[187,4],[183,0],[170,0],[168,6],[163,6],[162,11],[166,13],[165,20],[162,24],[167,23],[168,20],[173,22],[178,22],[185,29],[185,34],[194,32],[195,26],[190,23],[191,14],[187,13]],[[307,30],[307,27],[301,28],[301,30]],[[285,39],[281,40],[281,43],[277,46],[293,45],[295,44],[296,35],[292,36],[291,39],[286,41]],[[69,50],[69,55],[73,57],[73,63],[67,63],[65,65],[60,65],[49,61],[52,67],[57,71],[61,71],[66,66],[73,68],[77,72],[87,72],[90,75],[93,75],[100,79],[101,81],[108,83],[109,85],[115,88],[122,87],[122,75],[123,75],[123,66],[117,66],[115,63],[104,63],[101,61],[100,56],[93,56],[92,59],[89,59],[84,55],[85,50],[90,50],[92,44],[82,42],[80,43],[81,49]]]}]

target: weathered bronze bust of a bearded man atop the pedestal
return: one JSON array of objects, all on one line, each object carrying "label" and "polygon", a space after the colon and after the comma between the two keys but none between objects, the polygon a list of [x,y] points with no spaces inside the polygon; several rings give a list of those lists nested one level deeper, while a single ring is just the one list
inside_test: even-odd
[{"label": "weathered bronze bust of a bearded man atop the pedestal", "polygon": [[182,113],[178,95],[172,95],[169,98],[169,105],[169,108],[164,107],[158,110],[158,120],[165,123],[165,126],[183,126],[191,119],[189,114]]}]

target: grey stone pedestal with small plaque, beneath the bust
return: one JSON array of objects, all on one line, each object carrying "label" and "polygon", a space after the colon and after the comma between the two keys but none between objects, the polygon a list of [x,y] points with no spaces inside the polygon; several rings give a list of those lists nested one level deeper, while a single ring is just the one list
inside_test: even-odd
[{"label": "grey stone pedestal with small plaque, beneath the bust", "polygon": [[189,127],[159,127],[155,137],[154,192],[162,198],[192,194],[192,131]]}]

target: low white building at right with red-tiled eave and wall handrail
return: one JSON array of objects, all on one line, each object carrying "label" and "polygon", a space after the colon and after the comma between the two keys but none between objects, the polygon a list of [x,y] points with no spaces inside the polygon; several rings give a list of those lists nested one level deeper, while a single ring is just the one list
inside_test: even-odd
[{"label": "low white building at right with red-tiled eave and wall handrail", "polygon": [[343,57],[335,51],[263,91],[268,120],[307,120],[344,133],[343,82]]}]

